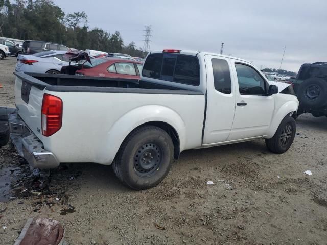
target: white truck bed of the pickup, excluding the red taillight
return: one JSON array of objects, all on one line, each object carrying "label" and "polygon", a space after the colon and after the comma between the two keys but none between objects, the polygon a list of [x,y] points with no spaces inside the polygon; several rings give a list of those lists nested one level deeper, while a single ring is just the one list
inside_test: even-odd
[{"label": "white truck bed of the pickup, excluding the red taillight", "polygon": [[[205,95],[153,82],[15,72],[19,117],[59,162],[111,164],[127,135],[152,122],[172,126],[180,151],[202,143]],[[62,126],[42,134],[44,94],[62,100]]]}]

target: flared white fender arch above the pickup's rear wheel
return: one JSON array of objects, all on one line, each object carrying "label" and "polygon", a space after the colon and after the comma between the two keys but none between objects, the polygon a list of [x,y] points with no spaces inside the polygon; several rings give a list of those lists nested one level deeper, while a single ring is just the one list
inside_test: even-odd
[{"label": "flared white fender arch above the pickup's rear wheel", "polygon": [[[137,118],[137,120],[135,120]],[[180,151],[185,146],[185,123],[180,115],[171,108],[160,105],[147,105],[134,108],[120,117],[110,128],[105,143],[107,164],[111,164],[127,135],[140,125],[151,121],[162,121],[171,125],[180,140]],[[115,144],[112,144],[115,142]]]}]

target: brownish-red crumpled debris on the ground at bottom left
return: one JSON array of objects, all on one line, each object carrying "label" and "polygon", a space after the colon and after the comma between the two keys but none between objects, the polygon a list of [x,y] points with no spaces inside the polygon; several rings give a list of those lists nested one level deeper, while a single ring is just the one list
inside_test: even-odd
[{"label": "brownish-red crumpled debris on the ground at bottom left", "polygon": [[63,243],[64,228],[50,218],[30,218],[14,245],[59,245]]}]

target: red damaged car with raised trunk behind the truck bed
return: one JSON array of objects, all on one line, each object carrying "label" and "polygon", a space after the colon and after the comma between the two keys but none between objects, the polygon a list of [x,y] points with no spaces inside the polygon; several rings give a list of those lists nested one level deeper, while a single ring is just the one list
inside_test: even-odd
[{"label": "red damaged car with raised trunk behind the truck bed", "polygon": [[139,79],[143,63],[119,58],[90,59],[85,52],[73,51],[64,55],[77,64],[62,67],[61,73],[90,77]]}]

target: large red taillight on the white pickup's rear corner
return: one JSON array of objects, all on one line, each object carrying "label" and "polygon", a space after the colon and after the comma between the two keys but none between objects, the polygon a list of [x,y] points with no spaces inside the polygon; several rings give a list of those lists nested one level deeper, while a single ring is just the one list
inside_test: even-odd
[{"label": "large red taillight on the white pickup's rear corner", "polygon": [[58,132],[62,124],[62,100],[50,94],[43,95],[42,134],[51,136]]}]

